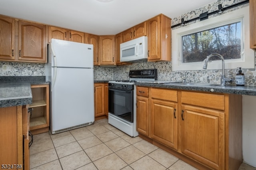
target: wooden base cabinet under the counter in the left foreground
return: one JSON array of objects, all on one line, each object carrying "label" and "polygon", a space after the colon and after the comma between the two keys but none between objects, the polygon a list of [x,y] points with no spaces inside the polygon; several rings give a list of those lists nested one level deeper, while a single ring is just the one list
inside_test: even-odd
[{"label": "wooden base cabinet under the counter in the left foreground", "polygon": [[[13,165],[14,169],[29,169],[27,106],[0,108],[0,164]],[[3,169],[12,169],[4,167]]]}]

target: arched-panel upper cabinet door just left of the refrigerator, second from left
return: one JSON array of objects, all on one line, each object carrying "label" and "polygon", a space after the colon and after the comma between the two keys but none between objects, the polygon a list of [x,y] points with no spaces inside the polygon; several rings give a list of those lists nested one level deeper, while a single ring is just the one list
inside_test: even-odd
[{"label": "arched-panel upper cabinet door just left of the refrigerator, second from left", "polygon": [[19,60],[47,62],[46,26],[19,21]]}]

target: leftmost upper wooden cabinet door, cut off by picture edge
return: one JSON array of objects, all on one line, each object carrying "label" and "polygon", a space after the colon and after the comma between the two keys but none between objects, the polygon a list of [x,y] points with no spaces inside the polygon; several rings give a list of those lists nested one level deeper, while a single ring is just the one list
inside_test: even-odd
[{"label": "leftmost upper wooden cabinet door, cut off by picture edge", "polygon": [[0,16],[0,59],[15,59],[15,20]]}]

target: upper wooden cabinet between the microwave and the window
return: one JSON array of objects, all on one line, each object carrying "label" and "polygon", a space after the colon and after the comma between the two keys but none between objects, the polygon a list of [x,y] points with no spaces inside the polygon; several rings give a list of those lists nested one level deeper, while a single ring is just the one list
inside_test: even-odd
[{"label": "upper wooden cabinet between the microwave and the window", "polygon": [[148,61],[171,61],[171,19],[160,14],[147,21]]}]

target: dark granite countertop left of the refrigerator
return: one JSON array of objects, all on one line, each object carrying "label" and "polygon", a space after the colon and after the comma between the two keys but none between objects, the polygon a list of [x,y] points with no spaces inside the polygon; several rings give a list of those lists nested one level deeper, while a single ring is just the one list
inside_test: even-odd
[{"label": "dark granite countertop left of the refrigerator", "polygon": [[44,76],[0,76],[0,107],[31,104],[31,85],[49,83]]}]

